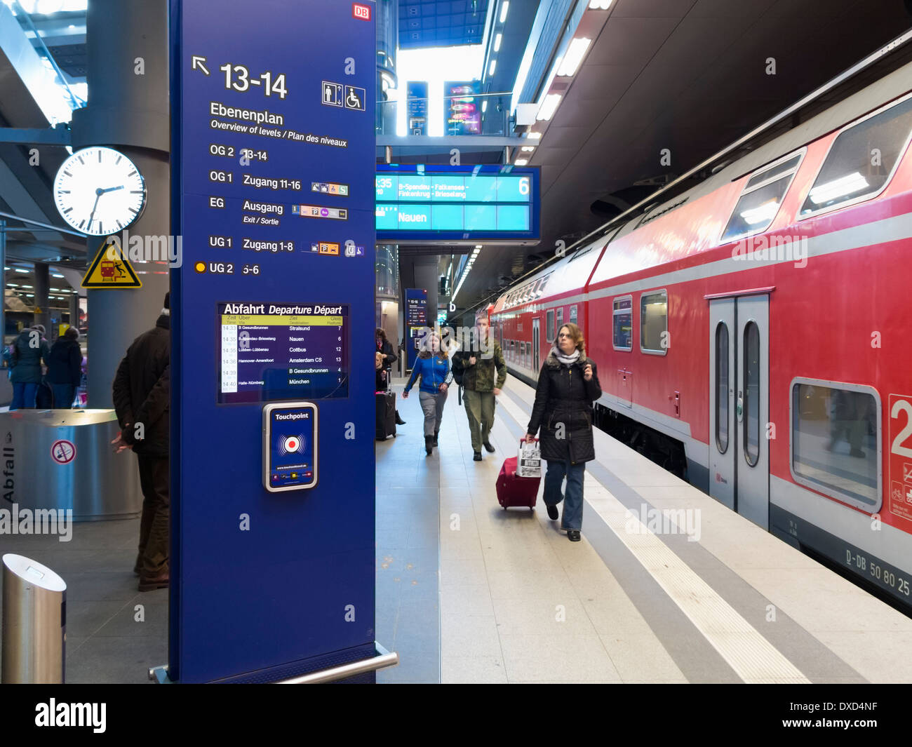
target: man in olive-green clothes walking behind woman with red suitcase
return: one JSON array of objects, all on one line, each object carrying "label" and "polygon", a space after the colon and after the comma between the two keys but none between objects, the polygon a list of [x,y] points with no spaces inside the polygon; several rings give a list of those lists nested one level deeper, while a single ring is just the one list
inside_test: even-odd
[{"label": "man in olive-green clothes walking behind woman with red suitcase", "polygon": [[[501,393],[507,380],[503,351],[490,334],[487,314],[477,317],[478,343],[460,350],[452,358],[453,375],[465,388],[465,414],[472,433],[472,459],[482,461],[482,446],[494,451],[491,429],[494,424],[494,397]],[[496,380],[495,380],[496,377]]]}]

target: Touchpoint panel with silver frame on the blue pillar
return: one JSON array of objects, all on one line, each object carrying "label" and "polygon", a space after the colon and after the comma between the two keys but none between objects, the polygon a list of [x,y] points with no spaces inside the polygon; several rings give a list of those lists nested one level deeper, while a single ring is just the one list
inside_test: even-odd
[{"label": "Touchpoint panel with silver frame on the blue pillar", "polygon": [[263,408],[263,486],[270,493],[316,485],[317,410],[313,402]]}]

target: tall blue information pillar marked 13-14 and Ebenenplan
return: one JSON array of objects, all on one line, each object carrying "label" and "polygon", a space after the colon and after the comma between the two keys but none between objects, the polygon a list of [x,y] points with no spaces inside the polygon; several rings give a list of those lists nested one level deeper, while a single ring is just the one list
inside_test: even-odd
[{"label": "tall blue information pillar marked 13-14 and Ebenenplan", "polygon": [[171,2],[171,680],[374,655],[373,16]]}]

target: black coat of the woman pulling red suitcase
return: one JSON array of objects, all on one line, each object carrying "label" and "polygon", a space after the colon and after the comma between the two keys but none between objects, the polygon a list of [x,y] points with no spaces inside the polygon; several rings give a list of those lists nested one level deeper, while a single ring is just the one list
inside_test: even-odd
[{"label": "black coat of the woman pulling red suitcase", "polygon": [[[586,364],[592,366],[589,381],[583,379]],[[552,351],[538,374],[532,420],[526,431],[535,435],[541,427],[542,459],[576,464],[596,458],[592,403],[601,396],[596,364],[591,358],[584,354],[567,366]]]}]

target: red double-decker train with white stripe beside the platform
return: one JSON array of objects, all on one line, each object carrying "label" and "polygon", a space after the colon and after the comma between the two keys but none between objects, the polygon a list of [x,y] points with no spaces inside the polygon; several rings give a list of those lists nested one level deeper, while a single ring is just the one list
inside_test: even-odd
[{"label": "red double-decker train with white stripe beside the platform", "polygon": [[530,383],[575,322],[596,422],[912,605],[912,65],[544,267],[491,322]]}]

